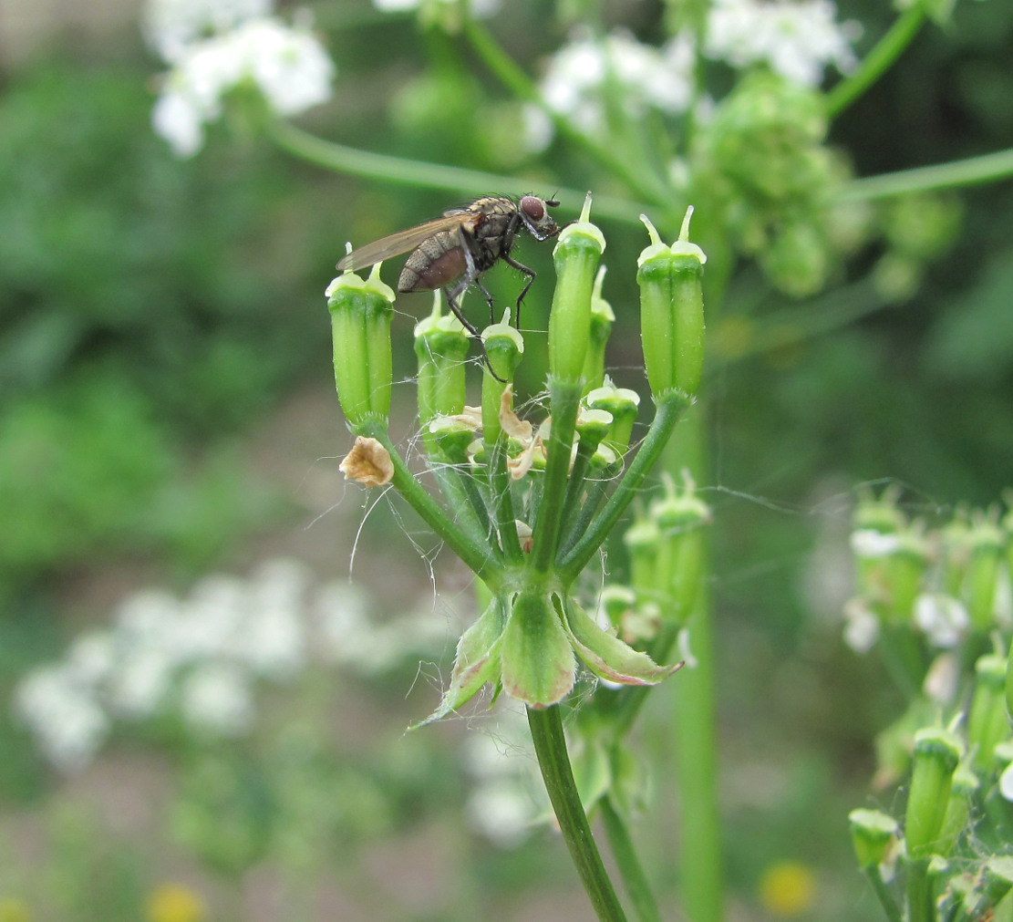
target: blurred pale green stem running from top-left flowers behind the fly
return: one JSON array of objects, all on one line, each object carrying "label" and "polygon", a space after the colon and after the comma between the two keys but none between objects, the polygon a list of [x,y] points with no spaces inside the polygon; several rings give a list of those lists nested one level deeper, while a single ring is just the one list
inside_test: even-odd
[{"label": "blurred pale green stem running from top-left flowers behind the fly", "polygon": [[[396,182],[400,185],[446,188],[465,196],[487,196],[490,191],[524,196],[532,190],[531,180],[519,179],[517,176],[501,176],[481,170],[426,163],[346,147],[333,141],[325,141],[287,122],[271,123],[267,131],[270,138],[283,150],[301,160],[315,163],[334,172]],[[564,208],[578,211],[587,193],[560,188],[555,195]],[[627,224],[639,224],[639,215],[647,210],[648,206],[616,196],[595,197],[597,215]]]}]

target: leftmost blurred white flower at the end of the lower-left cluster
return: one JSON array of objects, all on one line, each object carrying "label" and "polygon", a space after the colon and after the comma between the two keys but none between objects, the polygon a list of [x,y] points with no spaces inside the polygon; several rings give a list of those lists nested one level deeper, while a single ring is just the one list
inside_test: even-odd
[{"label": "leftmost blurred white flower at the end of the lower-left cluster", "polygon": [[65,665],[43,667],[22,679],[14,712],[49,762],[66,774],[86,768],[109,733],[109,718]]}]

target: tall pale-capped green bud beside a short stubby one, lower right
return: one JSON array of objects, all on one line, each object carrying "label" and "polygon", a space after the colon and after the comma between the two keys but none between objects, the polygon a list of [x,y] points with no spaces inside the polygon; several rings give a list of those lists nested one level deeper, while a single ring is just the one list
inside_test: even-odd
[{"label": "tall pale-capped green bud beside a short stubby one, lower right", "polygon": [[962,755],[959,739],[949,731],[926,727],[915,734],[914,767],[905,822],[905,839],[912,858],[927,859],[938,853],[953,772]]}]

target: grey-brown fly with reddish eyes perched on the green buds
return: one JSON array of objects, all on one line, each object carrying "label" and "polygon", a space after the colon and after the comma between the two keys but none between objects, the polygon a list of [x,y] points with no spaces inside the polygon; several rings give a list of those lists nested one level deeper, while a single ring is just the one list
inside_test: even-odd
[{"label": "grey-brown fly with reddish eyes perched on the green buds", "polygon": [[366,268],[412,250],[401,270],[397,290],[406,294],[443,289],[455,316],[481,345],[478,330],[461,312],[458,298],[474,283],[489,305],[490,322],[495,322],[492,296],[479,276],[502,259],[528,277],[517,299],[515,320],[520,326],[521,302],[536,274],[533,268],[514,259],[511,252],[522,228],[536,240],[547,240],[558,234],[560,228],[547,210],[558,205],[554,199],[539,199],[537,196],[524,196],[517,202],[506,196],[485,196],[463,208],[444,212],[442,218],[353,250],[337,263],[337,267],[342,271]]}]

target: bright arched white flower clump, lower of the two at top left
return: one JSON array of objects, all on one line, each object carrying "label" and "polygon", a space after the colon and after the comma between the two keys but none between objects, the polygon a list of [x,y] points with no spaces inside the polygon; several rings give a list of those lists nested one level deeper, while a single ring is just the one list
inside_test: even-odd
[{"label": "bright arched white flower clump, lower of the two at top left", "polygon": [[255,86],[280,116],[295,116],[330,98],[334,64],[305,27],[249,19],[235,29],[187,45],[173,58],[152,113],[155,131],[177,156],[204,144],[204,126],[222,112],[227,92]]}]

